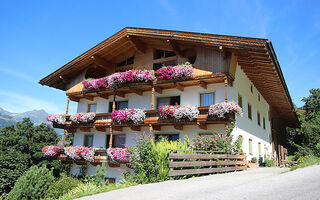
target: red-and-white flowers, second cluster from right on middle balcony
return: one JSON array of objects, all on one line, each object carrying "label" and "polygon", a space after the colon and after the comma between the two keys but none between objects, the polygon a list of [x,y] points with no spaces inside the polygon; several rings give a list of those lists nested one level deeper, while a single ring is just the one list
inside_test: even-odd
[{"label": "red-and-white flowers, second cluster from right on middle balcony", "polygon": [[199,110],[196,106],[186,105],[186,106],[161,106],[159,108],[159,115],[163,119],[168,117],[173,117],[174,119],[181,121],[183,119],[188,119],[190,121],[197,119],[199,115]]}]

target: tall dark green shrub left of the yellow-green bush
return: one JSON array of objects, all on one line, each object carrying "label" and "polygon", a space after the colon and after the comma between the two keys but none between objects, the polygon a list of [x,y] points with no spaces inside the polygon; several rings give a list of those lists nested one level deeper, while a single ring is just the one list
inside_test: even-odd
[{"label": "tall dark green shrub left of the yellow-green bush", "polygon": [[136,145],[129,147],[129,164],[136,174],[137,183],[154,183],[157,179],[159,166],[156,166],[156,155],[153,150],[152,135],[144,132],[136,137]]}]

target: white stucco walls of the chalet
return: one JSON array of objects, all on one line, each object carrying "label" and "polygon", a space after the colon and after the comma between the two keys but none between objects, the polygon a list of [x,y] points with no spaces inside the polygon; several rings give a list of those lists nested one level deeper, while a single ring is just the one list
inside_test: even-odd
[{"label": "white stucco walls of the chalet", "polygon": [[[251,85],[253,87],[253,92],[251,92]],[[197,105],[200,106],[200,94],[206,92],[215,92],[214,102],[219,103],[225,100],[225,86],[224,83],[209,84],[207,89],[203,89],[200,86],[192,86],[184,88],[184,91],[179,91],[178,89],[166,89],[163,90],[162,94],[155,94],[155,97],[166,97],[166,96],[180,96],[180,105]],[[259,94],[257,89],[254,87],[252,82],[248,79],[245,73],[241,70],[240,66],[237,66],[235,79],[233,86],[228,86],[228,99],[238,102],[238,95],[242,96],[242,108],[243,116],[236,116],[236,126],[232,134],[234,139],[239,135],[243,137],[243,151],[247,155],[247,159],[250,160],[252,157],[267,156],[269,157],[271,153],[271,139],[270,139],[270,121],[269,121],[269,105],[265,99]],[[258,99],[260,95],[260,100]],[[87,99],[81,99],[78,103],[78,112],[87,112],[88,104],[97,104],[97,113],[108,113],[109,103],[112,102],[113,97],[110,96],[108,100],[96,97],[93,101]],[[125,98],[117,97],[117,101],[128,100],[129,108],[142,108],[149,110],[151,107],[151,92],[144,92],[142,96],[131,93],[126,94]],[[248,106],[250,103],[252,106],[252,119],[248,118]],[[257,123],[257,112],[260,113],[260,125]],[[265,120],[265,129],[263,128],[263,118]],[[197,125],[187,125],[183,127],[183,130],[177,130],[173,126],[163,126],[161,131],[153,131],[153,134],[163,133],[163,134],[179,134],[179,138],[184,141],[184,137],[187,136],[192,139],[195,135],[199,133],[209,133],[210,131],[223,132],[225,130],[224,124],[208,125],[207,131],[200,129]],[[133,131],[129,127],[123,128],[121,132],[114,131],[114,134],[125,134],[125,143],[127,145],[135,144],[135,136],[141,132],[149,132],[148,127],[141,127],[141,131]],[[93,147],[105,148],[106,147],[106,137],[108,133],[100,132],[95,129],[91,129],[91,132],[86,133],[78,129],[74,135],[74,145],[84,144],[84,135],[93,135]],[[249,139],[252,140],[252,153],[249,152]],[[259,143],[260,143],[260,155],[259,155]],[[78,166],[74,166],[72,173],[77,173]],[[93,174],[95,172],[94,166],[88,167],[88,174]],[[120,168],[107,168],[107,177],[115,178],[116,181],[121,179],[121,173],[119,169],[125,169],[125,165]]]}]

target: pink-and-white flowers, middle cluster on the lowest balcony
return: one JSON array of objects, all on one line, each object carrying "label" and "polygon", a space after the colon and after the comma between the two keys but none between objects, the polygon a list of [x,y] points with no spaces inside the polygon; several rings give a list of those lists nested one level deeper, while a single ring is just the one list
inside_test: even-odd
[{"label": "pink-and-white flowers, middle cluster on the lowest balcony", "polygon": [[64,148],[65,154],[74,160],[80,160],[81,158],[86,161],[92,162],[94,156],[94,149],[91,147],[83,147],[83,146],[70,146]]}]

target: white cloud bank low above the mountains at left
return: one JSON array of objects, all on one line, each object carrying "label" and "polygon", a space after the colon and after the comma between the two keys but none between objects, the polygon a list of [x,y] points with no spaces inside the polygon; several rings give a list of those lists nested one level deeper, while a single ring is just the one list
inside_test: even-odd
[{"label": "white cloud bank low above the mountains at left", "polygon": [[44,109],[48,113],[64,113],[62,108],[53,102],[35,99],[15,92],[0,89],[0,107],[11,112],[25,112]]}]

